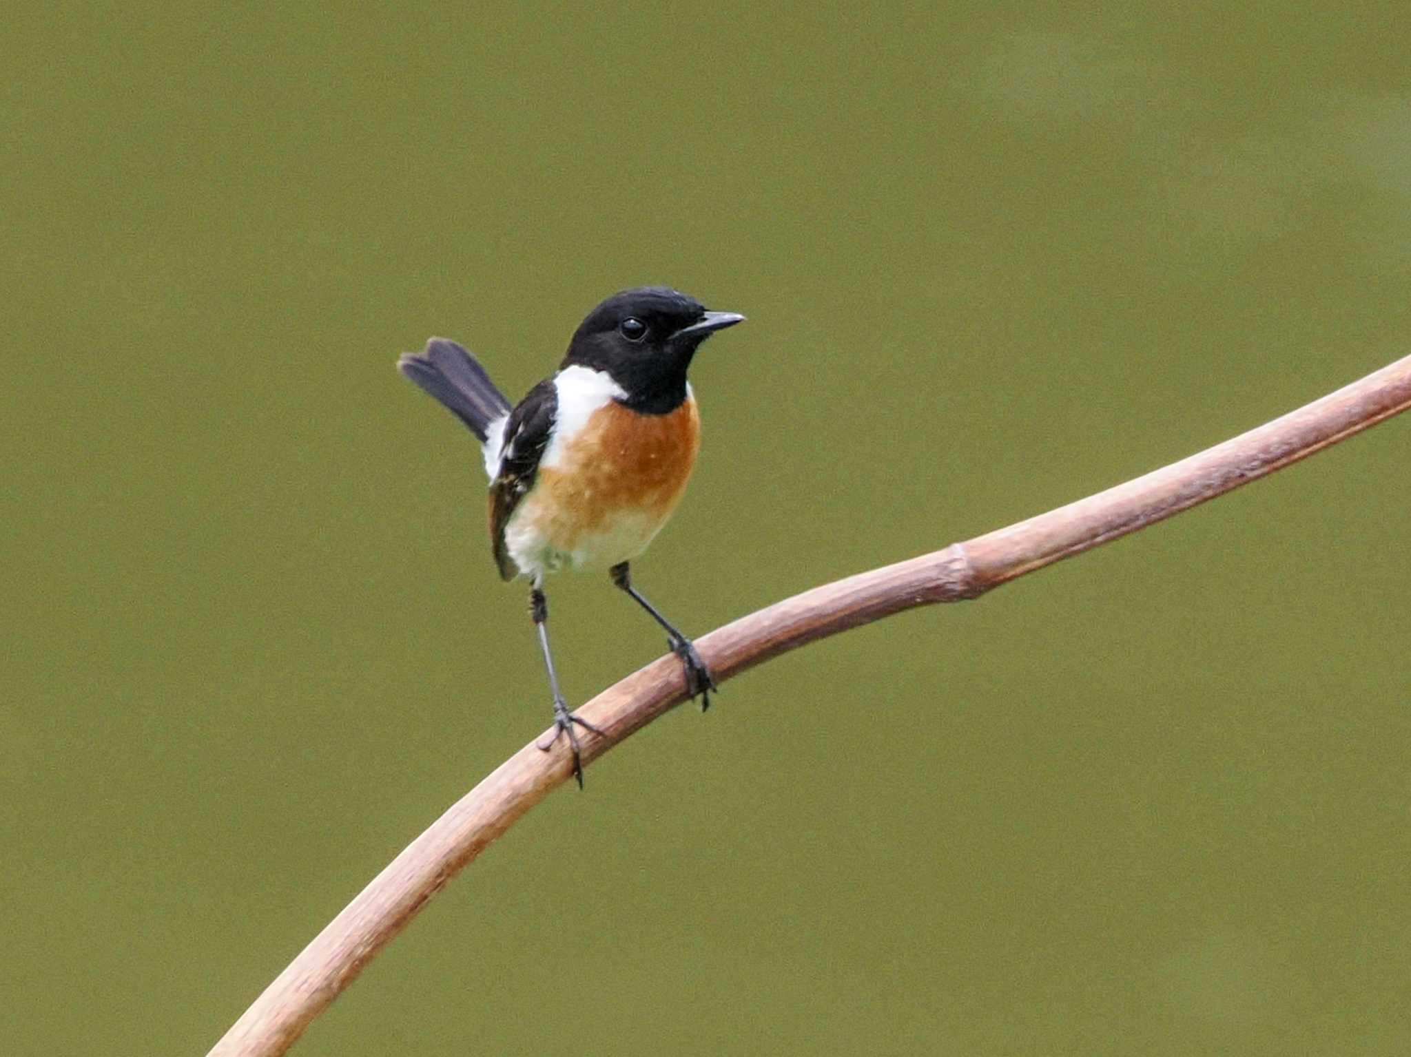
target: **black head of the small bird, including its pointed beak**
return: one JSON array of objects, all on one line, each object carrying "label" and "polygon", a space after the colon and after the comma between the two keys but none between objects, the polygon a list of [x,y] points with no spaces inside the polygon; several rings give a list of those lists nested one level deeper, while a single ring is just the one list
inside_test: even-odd
[{"label": "black head of the small bird, including its pointed beak", "polygon": [[569,342],[563,366],[604,371],[626,390],[628,407],[666,414],[686,399],[686,369],[697,347],[744,316],[707,311],[694,297],[666,286],[639,286],[614,293]]}]

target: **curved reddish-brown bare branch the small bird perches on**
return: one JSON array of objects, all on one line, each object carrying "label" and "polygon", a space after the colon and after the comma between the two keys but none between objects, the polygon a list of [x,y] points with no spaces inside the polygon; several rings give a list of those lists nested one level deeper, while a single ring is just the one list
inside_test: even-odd
[{"label": "curved reddish-brown bare branch the small bird perches on", "polygon": [[[933,602],[976,598],[1007,581],[1144,528],[1273,474],[1411,406],[1411,357],[1283,419],[1146,476],[943,551],[806,591],[696,640],[717,679],[806,643]],[[660,658],[583,706],[608,731],[584,736],[584,764],[684,699],[680,664]],[[531,741],[392,860],[303,948],[210,1051],[282,1054],[440,888],[567,781],[562,744]]]}]

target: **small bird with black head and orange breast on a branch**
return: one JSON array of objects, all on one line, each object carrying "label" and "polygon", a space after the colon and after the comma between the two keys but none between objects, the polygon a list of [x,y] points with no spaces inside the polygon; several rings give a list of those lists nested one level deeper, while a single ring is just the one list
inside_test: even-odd
[{"label": "small bird with black head and orange breast on a branch", "polygon": [[567,737],[583,788],[576,726],[549,648],[545,576],[607,568],[617,588],[662,626],[686,691],[710,706],[715,681],[696,645],[634,586],[629,562],[666,524],[700,450],[700,412],[687,382],[711,334],[744,321],[667,286],[638,286],[602,300],[579,324],[559,369],[511,404],[490,373],[449,338],[406,352],[398,371],[440,402],[481,445],[491,555],[504,581],[529,581],[533,620],[553,699],[549,751]]}]

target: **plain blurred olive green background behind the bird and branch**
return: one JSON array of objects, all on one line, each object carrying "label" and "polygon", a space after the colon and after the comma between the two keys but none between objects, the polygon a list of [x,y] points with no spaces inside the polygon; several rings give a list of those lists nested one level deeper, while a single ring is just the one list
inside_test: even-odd
[{"label": "plain blurred olive green background behind the bird and branch", "polygon": [[[1401,4],[7,8],[0,1051],[203,1053],[536,736],[446,334],[749,321],[704,631],[1411,352]],[[301,1054],[1403,1054],[1411,419],[682,709]],[[574,702],[660,653],[550,585]]]}]

